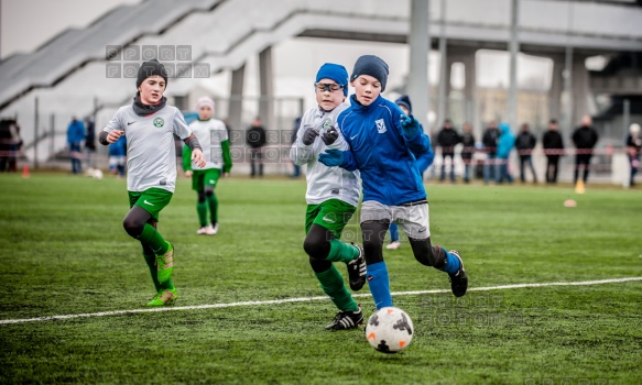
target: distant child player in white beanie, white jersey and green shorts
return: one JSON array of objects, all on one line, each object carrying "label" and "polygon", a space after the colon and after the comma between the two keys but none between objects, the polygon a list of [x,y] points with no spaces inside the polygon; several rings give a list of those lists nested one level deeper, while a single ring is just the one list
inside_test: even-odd
[{"label": "distant child player in white beanie, white jersey and green shorts", "polygon": [[[192,189],[197,194],[196,212],[200,228],[199,235],[215,235],[218,233],[218,199],[215,194],[218,178],[229,176],[232,167],[229,136],[225,123],[211,118],[214,100],[203,97],[196,102],[198,120],[189,123],[189,129],[198,139],[203,147],[206,165],[200,167],[192,161],[192,150],[183,148],[183,169],[187,177],[192,177]],[[209,210],[210,224],[207,223]]]}]

